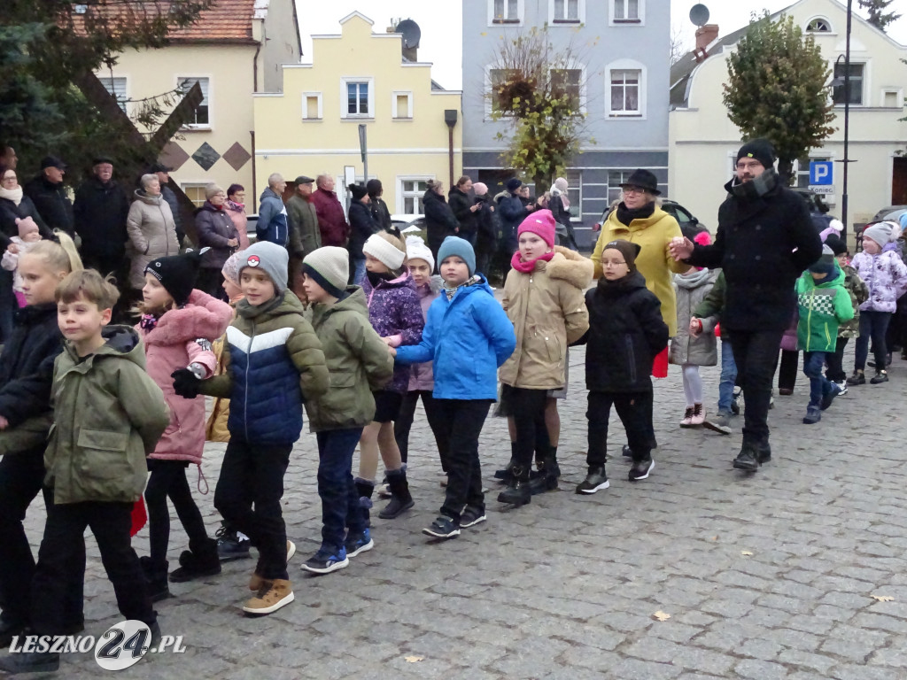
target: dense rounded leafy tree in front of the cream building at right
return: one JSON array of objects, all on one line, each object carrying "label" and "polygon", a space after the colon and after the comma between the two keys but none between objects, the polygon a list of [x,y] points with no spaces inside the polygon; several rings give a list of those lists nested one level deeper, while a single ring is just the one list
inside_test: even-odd
[{"label": "dense rounded leafy tree in front of the cream building at right", "polygon": [[792,16],[773,22],[766,12],[727,57],[727,71],[728,117],[747,139],[765,137],[775,145],[778,173],[789,181],[794,161],[834,132],[826,85],[831,70],[813,36],[804,38]]}]

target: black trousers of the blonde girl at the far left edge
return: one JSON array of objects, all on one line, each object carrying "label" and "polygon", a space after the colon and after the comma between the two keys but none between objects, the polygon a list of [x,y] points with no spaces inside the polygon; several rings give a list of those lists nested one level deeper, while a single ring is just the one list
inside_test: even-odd
[{"label": "black trousers of the blonde girl at the far left edge", "polygon": [[[41,491],[44,472],[44,449],[0,457],[0,607],[6,622],[23,626],[29,620],[34,557],[22,522]],[[45,490],[44,505],[50,506],[53,500]],[[83,621],[84,543],[72,560],[71,578],[63,589],[64,627]]]}]

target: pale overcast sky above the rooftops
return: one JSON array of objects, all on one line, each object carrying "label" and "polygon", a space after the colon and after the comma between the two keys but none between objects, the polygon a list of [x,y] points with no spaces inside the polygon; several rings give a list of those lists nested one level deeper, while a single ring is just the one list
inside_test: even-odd
[{"label": "pale overcast sky above the rooftops", "polygon": [[[663,2],[664,0],[659,0]],[[302,33],[303,61],[310,62],[312,34],[338,34],[338,22],[358,10],[375,22],[375,33],[384,33],[391,19],[413,19],[422,28],[419,61],[432,62],[432,77],[449,90],[459,90],[463,85],[461,46],[462,17],[459,2],[439,3],[428,0],[328,0],[306,2],[296,0],[299,29]],[[711,12],[710,24],[718,24],[721,34],[731,33],[749,23],[749,15],[763,9],[776,12],[791,5],[794,0],[707,0]],[[671,3],[672,29],[687,34],[687,44],[693,44],[693,24],[689,22],[689,9],[696,0],[673,0]],[[655,5],[655,3],[650,3]],[[856,2],[853,3],[856,12]],[[897,3],[894,3],[897,5]],[[904,8],[907,15],[907,8]],[[907,18],[902,17],[888,28],[888,34],[901,44],[907,44]]]}]

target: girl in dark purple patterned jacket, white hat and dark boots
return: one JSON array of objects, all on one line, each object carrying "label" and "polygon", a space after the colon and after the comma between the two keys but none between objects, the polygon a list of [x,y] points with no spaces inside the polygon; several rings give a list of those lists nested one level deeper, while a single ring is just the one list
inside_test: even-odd
[{"label": "girl in dark purple patterned jacket, white hat and dark boots", "polygon": [[[363,279],[362,290],[366,294],[368,320],[387,345],[418,345],[422,342],[425,322],[413,277],[405,268],[405,244],[393,234],[381,232],[366,240],[362,252],[366,256],[366,278]],[[375,491],[379,452],[385,463],[391,500],[378,517],[393,520],[414,505],[406,482],[405,465],[394,436],[394,421],[409,386],[409,374],[409,366],[395,365],[391,382],[374,393],[375,420],[366,425],[359,440],[356,489],[366,514],[366,523]]]}]

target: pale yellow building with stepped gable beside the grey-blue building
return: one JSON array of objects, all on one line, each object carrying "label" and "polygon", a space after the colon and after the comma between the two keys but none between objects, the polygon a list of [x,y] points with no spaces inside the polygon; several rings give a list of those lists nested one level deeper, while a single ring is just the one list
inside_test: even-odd
[{"label": "pale yellow building with stepped gable beside the grey-blue building", "polygon": [[288,181],[327,173],[346,205],[345,178],[364,180],[364,124],[368,179],[381,180],[392,213],[421,213],[426,180],[450,188],[453,116],[454,180],[462,174],[462,93],[434,84],[430,63],[407,60],[400,34],[372,26],[354,12],[340,34],[313,35],[312,63],[284,64],[283,92],[254,96],[259,191],[272,172]]}]

